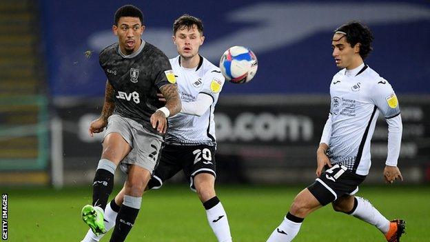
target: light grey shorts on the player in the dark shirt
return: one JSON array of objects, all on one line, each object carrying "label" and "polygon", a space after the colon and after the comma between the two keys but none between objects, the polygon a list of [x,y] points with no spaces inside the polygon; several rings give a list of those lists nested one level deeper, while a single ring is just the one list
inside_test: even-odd
[{"label": "light grey shorts on the player in the dark shirt", "polygon": [[125,139],[132,148],[119,164],[121,170],[127,173],[128,165],[139,165],[152,174],[158,161],[158,154],[160,153],[161,143],[163,143],[163,137],[154,134],[143,127],[141,123],[133,119],[121,117],[118,114],[112,114],[109,119],[107,119],[107,128],[104,138],[107,134],[112,132],[121,134],[123,139]]}]

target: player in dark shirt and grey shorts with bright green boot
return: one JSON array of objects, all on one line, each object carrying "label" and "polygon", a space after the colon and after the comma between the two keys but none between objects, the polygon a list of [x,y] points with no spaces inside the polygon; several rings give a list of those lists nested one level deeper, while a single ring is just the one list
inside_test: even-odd
[{"label": "player in dark shirt and grey shorts with bright green boot", "polygon": [[[181,101],[169,59],[141,39],[145,30],[141,10],[130,5],[119,8],[112,30],[118,43],[107,46],[99,57],[107,76],[105,103],[89,132],[107,130],[94,177],[92,205],[83,207],[82,218],[95,234],[105,232],[103,210],[112,192],[114,172],[121,165],[127,181],[110,241],[124,241],[156,165],[167,117],[181,110]],[[158,92],[164,95],[165,105],[158,100]]]}]

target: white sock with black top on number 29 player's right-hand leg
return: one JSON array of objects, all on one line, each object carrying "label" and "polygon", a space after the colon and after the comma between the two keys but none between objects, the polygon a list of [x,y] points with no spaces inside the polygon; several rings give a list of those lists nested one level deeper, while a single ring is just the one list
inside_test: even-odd
[{"label": "white sock with black top on number 29 player's right-hand leg", "polygon": [[207,221],[218,241],[231,242],[232,235],[230,234],[227,214],[225,213],[223,205],[218,200],[218,197],[214,196],[212,199],[203,203],[203,206],[206,209]]}]

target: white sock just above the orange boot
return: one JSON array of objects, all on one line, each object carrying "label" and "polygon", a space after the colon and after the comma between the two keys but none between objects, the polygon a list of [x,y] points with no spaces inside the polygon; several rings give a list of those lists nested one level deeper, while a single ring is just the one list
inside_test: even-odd
[{"label": "white sock just above the orange boot", "polygon": [[360,196],[356,196],[357,208],[354,212],[351,213],[352,216],[355,216],[362,221],[370,223],[371,225],[375,225],[380,232],[383,234],[387,234],[389,230],[390,222],[385,216],[382,216],[376,208],[371,205],[367,199],[363,199]]}]

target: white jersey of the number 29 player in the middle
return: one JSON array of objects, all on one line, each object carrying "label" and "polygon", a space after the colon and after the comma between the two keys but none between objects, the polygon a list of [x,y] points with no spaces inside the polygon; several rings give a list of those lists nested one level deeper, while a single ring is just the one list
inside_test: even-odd
[{"label": "white jersey of the number 29 player in the middle", "polygon": [[197,68],[193,69],[183,68],[180,56],[170,59],[170,63],[176,76],[181,102],[195,101],[199,93],[209,95],[213,102],[209,110],[200,117],[181,112],[170,117],[165,143],[216,145],[214,109],[225,81],[223,74],[204,57],[200,57]]}]

